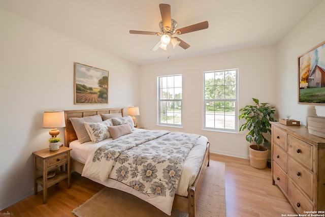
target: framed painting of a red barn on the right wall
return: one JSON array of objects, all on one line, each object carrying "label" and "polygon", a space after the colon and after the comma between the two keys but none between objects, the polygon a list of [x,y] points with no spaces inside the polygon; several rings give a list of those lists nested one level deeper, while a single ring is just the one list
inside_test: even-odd
[{"label": "framed painting of a red barn on the right wall", "polygon": [[299,103],[325,103],[325,41],[298,57]]}]

